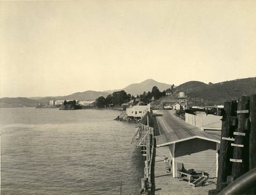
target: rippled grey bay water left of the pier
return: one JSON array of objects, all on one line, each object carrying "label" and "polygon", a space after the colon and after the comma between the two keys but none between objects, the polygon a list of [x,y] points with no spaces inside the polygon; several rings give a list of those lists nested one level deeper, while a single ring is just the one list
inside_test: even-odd
[{"label": "rippled grey bay water left of the pier", "polygon": [[143,157],[117,110],[1,109],[1,194],[138,194]]}]

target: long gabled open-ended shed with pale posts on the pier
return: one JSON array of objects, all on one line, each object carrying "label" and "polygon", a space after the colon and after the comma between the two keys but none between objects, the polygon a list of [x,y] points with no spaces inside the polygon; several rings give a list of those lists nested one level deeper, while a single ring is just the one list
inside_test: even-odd
[{"label": "long gabled open-ended shed with pale posts on the pier", "polygon": [[161,115],[156,116],[160,132],[156,136],[157,147],[168,146],[173,177],[179,177],[178,163],[183,163],[186,170],[203,170],[209,177],[217,177],[220,132],[202,131],[175,117],[173,113],[158,110]]}]

